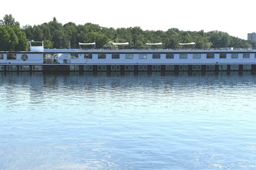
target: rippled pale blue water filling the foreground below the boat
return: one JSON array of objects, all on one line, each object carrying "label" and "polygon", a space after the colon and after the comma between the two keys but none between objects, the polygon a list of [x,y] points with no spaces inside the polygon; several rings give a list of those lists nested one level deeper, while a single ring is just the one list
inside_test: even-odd
[{"label": "rippled pale blue water filling the foreground below the boat", "polygon": [[0,169],[256,169],[256,76],[0,73]]}]

